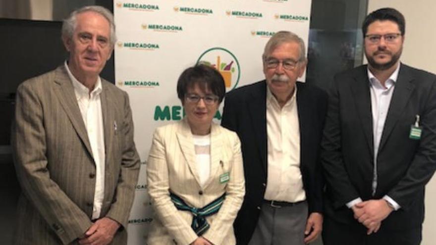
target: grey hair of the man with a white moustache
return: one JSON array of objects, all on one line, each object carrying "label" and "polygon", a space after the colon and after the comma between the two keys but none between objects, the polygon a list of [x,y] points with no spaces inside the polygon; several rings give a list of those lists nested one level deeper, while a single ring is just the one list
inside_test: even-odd
[{"label": "grey hair of the man with a white moustache", "polygon": [[277,48],[277,46],[283,43],[291,43],[295,42],[300,47],[300,57],[298,61],[306,60],[306,48],[304,46],[304,41],[297,34],[289,31],[279,31],[276,32],[265,45],[264,54],[262,55],[262,59],[265,61],[268,55],[272,53],[272,51]]}]

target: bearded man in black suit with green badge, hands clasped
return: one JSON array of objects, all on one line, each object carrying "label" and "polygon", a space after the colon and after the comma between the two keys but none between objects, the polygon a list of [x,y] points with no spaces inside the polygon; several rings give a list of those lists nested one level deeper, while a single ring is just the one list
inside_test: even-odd
[{"label": "bearded man in black suit with green badge, hands clasped", "polygon": [[335,76],[322,143],[325,245],[418,245],[436,168],[436,76],[400,63],[405,20],[363,23],[368,65]]}]

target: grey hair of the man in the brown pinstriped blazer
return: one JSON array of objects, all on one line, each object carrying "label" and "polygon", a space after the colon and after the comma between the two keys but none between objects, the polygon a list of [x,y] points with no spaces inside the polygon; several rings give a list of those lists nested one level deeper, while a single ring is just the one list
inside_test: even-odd
[{"label": "grey hair of the man in the brown pinstriped blazer", "polygon": [[109,9],[98,5],[84,6],[71,12],[68,18],[63,20],[62,37],[67,39],[71,39],[73,37],[74,30],[77,27],[77,15],[83,12],[98,13],[109,21],[109,25],[110,25],[109,43],[110,46],[113,47],[116,42],[115,22],[113,20],[113,14],[109,11]]}]

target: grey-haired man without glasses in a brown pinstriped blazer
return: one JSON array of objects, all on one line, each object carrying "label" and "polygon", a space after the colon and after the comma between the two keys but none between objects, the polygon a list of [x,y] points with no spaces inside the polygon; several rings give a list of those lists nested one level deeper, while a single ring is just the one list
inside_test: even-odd
[{"label": "grey-haired man without glasses in a brown pinstriped blazer", "polygon": [[14,244],[126,244],[139,157],[127,94],[99,77],[114,31],[109,10],[74,11],[62,26],[67,62],[17,90]]}]

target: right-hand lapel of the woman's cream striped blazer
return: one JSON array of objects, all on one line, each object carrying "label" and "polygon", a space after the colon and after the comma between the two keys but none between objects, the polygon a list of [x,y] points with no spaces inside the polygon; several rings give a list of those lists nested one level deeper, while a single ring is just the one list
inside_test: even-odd
[{"label": "right-hand lapel of the woman's cream striped blazer", "polygon": [[222,146],[222,135],[219,132],[219,127],[215,123],[212,123],[211,128],[211,174],[209,179],[206,181],[204,187],[207,188],[213,182],[219,181],[219,168],[222,167],[224,153]]}]

